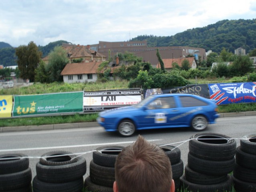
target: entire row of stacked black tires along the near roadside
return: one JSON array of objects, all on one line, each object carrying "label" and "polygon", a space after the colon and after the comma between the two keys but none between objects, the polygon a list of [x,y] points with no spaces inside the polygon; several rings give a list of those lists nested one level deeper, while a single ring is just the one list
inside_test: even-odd
[{"label": "entire row of stacked black tires along the near roadside", "polygon": [[[187,164],[178,147],[159,145],[171,161],[175,191],[256,192],[256,133],[236,140],[217,133],[189,138]],[[113,192],[115,160],[123,146],[102,146],[92,153],[89,176],[83,156],[68,151],[43,154],[32,179],[25,154],[0,155],[0,192]]]}]

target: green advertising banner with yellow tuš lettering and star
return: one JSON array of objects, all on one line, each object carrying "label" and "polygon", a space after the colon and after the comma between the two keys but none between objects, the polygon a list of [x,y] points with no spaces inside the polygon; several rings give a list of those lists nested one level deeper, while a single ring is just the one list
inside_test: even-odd
[{"label": "green advertising banner with yellow tu\u0161 lettering and star", "polygon": [[83,91],[14,96],[12,116],[83,112]]}]

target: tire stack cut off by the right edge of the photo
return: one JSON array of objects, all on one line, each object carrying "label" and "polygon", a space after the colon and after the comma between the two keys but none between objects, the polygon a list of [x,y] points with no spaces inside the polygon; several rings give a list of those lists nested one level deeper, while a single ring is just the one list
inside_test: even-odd
[{"label": "tire stack cut off by the right edge of the photo", "polygon": [[256,134],[245,135],[240,140],[233,180],[236,192],[256,192]]}]

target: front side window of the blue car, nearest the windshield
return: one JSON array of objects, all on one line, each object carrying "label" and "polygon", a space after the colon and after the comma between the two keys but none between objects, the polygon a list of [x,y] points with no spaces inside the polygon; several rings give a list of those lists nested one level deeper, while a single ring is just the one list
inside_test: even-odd
[{"label": "front side window of the blue car, nearest the windshield", "polygon": [[174,97],[161,97],[149,103],[148,107],[149,109],[167,109],[175,108],[176,104]]}]

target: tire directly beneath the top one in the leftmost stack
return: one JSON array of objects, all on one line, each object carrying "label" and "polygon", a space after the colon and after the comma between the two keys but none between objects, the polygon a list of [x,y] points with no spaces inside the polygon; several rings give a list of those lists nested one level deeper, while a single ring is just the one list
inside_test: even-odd
[{"label": "tire directly beneath the top one in the leftmost stack", "polygon": [[0,191],[18,190],[31,184],[32,172],[30,168],[24,171],[0,175]]}]

